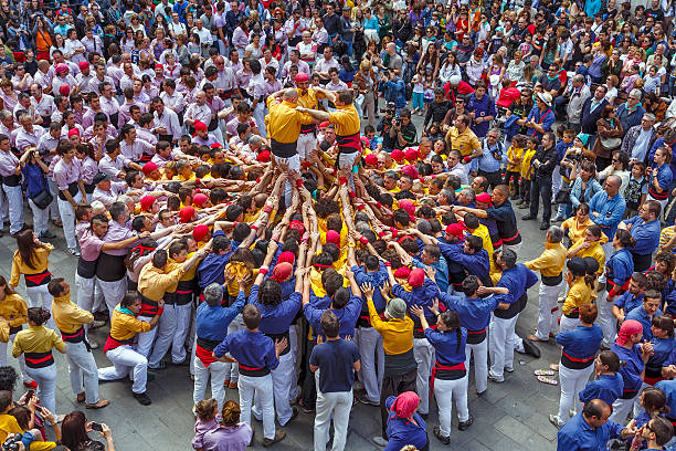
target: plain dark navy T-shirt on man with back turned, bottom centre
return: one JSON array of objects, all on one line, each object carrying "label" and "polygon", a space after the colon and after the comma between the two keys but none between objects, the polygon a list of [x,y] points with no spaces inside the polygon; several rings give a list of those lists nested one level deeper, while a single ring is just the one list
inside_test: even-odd
[{"label": "plain dark navy T-shirt on man with back turned, bottom centre", "polygon": [[355,361],[359,360],[355,342],[329,339],[313,348],[311,366],[319,367],[319,391],[350,391],[355,382]]}]

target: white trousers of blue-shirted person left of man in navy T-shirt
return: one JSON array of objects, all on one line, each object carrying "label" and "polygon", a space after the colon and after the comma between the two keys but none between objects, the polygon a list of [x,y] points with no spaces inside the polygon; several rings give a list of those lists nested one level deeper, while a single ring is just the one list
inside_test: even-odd
[{"label": "white trousers of blue-shirted person left of man in navy T-shirt", "polygon": [[255,395],[263,410],[263,438],[274,439],[275,401],[272,376],[252,377],[240,375],[237,379],[237,389],[240,390],[240,408],[242,409],[242,415],[240,416],[241,421],[251,426],[251,409]]}]

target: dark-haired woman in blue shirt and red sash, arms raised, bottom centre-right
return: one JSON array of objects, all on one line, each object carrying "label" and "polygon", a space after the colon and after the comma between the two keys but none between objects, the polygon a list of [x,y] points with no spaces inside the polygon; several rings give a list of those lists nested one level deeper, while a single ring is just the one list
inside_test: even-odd
[{"label": "dark-haired woman in blue shirt and red sash, arms raised, bottom centre-right", "polygon": [[464,431],[472,422],[467,409],[467,368],[465,367],[465,345],[467,344],[467,329],[461,327],[460,316],[447,310],[439,313],[439,304],[430,308],[436,315],[437,329],[430,328],[423,308],[411,307],[411,313],[420,318],[425,332],[425,338],[436,352],[436,363],[432,369],[432,391],[439,405],[439,427],[433,429],[434,437],[442,443],[451,442],[451,412],[453,399],[457,408],[458,429]]}]

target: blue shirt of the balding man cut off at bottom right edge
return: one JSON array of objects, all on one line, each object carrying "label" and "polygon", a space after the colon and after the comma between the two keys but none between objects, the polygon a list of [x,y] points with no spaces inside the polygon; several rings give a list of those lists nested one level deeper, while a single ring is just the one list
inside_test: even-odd
[{"label": "blue shirt of the balding man cut off at bottom right edge", "polygon": [[592,428],[579,412],[559,429],[557,451],[605,451],[608,441],[620,438],[622,429],[610,420]]}]

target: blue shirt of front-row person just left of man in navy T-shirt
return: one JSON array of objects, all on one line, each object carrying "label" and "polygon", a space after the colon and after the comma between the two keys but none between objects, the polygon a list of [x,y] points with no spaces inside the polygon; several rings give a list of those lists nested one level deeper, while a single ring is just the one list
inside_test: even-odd
[{"label": "blue shirt of front-row person just left of man in navy T-shirt", "polygon": [[230,353],[240,365],[250,368],[267,368],[273,370],[279,365],[275,352],[275,343],[261,331],[249,329],[229,334],[214,349],[213,355],[221,358]]}]

